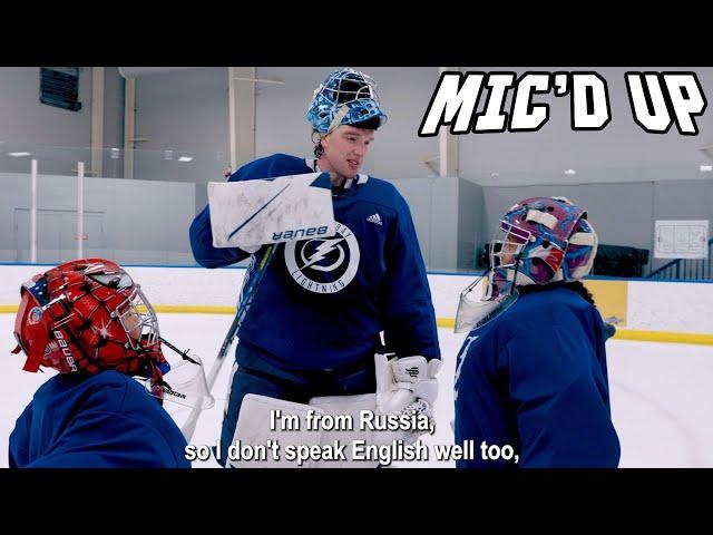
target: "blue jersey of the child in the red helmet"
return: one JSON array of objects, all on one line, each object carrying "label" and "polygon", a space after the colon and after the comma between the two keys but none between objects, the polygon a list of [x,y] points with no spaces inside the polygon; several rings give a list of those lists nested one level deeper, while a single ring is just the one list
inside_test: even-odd
[{"label": "blue jersey of the child in the red helmet", "polygon": [[11,468],[191,468],[186,440],[146,389],[116,371],[57,374],[10,435]]}]

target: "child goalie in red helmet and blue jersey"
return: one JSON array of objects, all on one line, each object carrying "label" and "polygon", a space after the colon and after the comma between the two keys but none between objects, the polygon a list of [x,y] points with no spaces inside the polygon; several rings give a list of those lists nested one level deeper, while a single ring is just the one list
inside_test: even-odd
[{"label": "child goalie in red helmet and blue jersey", "polygon": [[182,405],[202,403],[206,398],[193,395],[207,393],[205,376],[191,360],[177,373],[188,379],[184,372],[193,368],[203,390],[165,379],[179,364],[168,371],[162,350],[168,342],[128,273],[108,260],[75,260],[33,276],[21,298],[13,352],[27,356],[26,371],[59,373],[18,418],[10,467],[191,468],[186,440],[162,402],[179,395]]}]

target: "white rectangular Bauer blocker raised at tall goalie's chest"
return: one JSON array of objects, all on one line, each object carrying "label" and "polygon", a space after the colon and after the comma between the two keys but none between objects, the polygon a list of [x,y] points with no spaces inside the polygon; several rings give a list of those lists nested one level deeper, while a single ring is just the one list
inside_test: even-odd
[{"label": "white rectangular Bauer blocker raised at tall goalie's chest", "polygon": [[335,234],[329,173],[208,183],[214,247],[256,250]]}]

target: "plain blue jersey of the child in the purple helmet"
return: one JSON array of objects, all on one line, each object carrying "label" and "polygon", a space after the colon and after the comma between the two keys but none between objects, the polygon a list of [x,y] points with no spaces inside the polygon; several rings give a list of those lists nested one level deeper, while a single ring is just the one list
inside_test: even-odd
[{"label": "plain blue jersey of the child in the purple helmet", "polygon": [[[559,286],[525,293],[471,331],[456,368],[456,444],[473,440],[459,467],[616,467],[602,317]],[[509,445],[514,465],[481,459],[481,442]],[[492,450],[495,454],[495,450]]]}]

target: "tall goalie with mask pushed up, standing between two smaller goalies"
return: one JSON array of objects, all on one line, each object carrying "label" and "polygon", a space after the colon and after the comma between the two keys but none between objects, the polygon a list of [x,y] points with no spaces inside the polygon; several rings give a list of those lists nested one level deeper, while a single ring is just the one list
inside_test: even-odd
[{"label": "tall goalie with mask pushed up, standing between two smaller goalies", "polygon": [[[419,357],[420,369],[434,379],[440,363],[436,318],[409,207],[391,184],[359,173],[385,118],[373,80],[338,70],[315,90],[307,110],[314,158],[275,154],[229,177],[331,173],[336,235],[279,245],[237,332],[222,464],[247,393],[306,403],[319,396],[374,392],[382,331],[389,351]],[[208,210],[191,226],[196,261],[219,268],[254,253],[246,276],[255,276],[266,247],[214,247]]]}]

